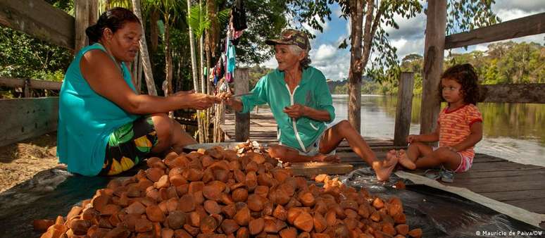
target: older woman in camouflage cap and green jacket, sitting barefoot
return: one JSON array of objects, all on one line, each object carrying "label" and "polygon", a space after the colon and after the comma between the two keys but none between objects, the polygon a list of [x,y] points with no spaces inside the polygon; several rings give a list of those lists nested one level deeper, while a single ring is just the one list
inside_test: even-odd
[{"label": "older woman in camouflage cap and green jacket, sitting barefoot", "polygon": [[279,141],[270,147],[270,156],[284,162],[338,162],[334,150],[346,139],[353,151],[372,166],[378,180],[388,180],[397,163],[395,151],[379,161],[347,120],[327,128],[326,123],[335,118],[335,109],[325,76],[309,65],[308,37],[290,29],[282,32],[280,39],[268,39],[265,43],[275,47],[278,68],[263,76],[252,94],[242,96],[240,101],[230,94],[220,97],[241,113],[251,111],[256,105],[269,104],[278,125]]}]

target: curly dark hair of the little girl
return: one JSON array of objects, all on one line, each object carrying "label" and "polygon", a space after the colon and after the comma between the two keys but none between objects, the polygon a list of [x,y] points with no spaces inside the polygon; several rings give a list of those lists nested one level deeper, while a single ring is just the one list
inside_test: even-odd
[{"label": "curly dark hair of the little girl", "polygon": [[[477,105],[477,100],[479,99],[479,86],[477,82],[479,82],[479,77],[471,64],[453,65],[441,75],[442,79],[456,80],[456,82],[462,85],[461,93],[463,101],[466,104]],[[442,92],[441,82],[439,82],[439,97],[441,101],[445,101]]]}]

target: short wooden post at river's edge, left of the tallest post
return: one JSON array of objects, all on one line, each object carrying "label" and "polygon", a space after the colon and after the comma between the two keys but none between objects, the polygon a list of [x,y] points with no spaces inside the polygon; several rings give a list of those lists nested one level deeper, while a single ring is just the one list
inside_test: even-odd
[{"label": "short wooden post at river's edge, left of the tallest post", "polygon": [[399,89],[397,90],[396,125],[394,130],[394,146],[406,146],[406,138],[411,128],[411,109],[413,108],[413,72],[401,72]]}]

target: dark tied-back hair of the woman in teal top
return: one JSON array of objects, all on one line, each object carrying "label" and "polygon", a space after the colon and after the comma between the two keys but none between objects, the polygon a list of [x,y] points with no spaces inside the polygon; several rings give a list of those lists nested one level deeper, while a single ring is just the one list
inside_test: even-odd
[{"label": "dark tied-back hair of the woman in teal top", "polygon": [[99,20],[96,21],[96,24],[87,27],[85,30],[85,34],[89,37],[89,44],[99,42],[99,39],[104,32],[104,28],[108,28],[115,33],[123,27],[123,24],[125,23],[140,24],[140,20],[127,8],[111,8],[105,13],[102,13]]}]

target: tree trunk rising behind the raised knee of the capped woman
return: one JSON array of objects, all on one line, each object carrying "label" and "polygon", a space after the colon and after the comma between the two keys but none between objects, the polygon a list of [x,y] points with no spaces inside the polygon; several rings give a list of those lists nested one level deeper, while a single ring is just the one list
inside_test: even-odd
[{"label": "tree trunk rising behind the raised knee of the capped woman", "polygon": [[350,49],[350,71],[349,71],[349,122],[356,129],[361,131],[361,75],[363,68],[359,67],[361,61],[362,23],[363,23],[363,2],[351,1],[351,49]]}]

